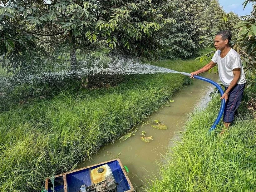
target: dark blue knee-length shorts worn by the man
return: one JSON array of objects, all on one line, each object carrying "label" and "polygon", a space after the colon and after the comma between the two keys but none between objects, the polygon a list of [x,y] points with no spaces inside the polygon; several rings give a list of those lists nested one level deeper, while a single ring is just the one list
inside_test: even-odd
[{"label": "dark blue knee-length shorts worn by the man", "polygon": [[[223,121],[225,123],[232,123],[234,121],[234,116],[237,114],[237,108],[243,98],[245,84],[236,84],[229,91],[229,98],[225,104]],[[225,87],[225,91],[228,87]]]}]

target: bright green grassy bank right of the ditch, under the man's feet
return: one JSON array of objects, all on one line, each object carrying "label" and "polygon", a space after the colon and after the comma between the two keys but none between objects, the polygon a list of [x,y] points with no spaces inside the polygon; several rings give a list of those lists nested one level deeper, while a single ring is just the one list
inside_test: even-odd
[{"label": "bright green grassy bank right of the ditch, under the man's feet", "polygon": [[[256,89],[251,89],[252,97]],[[254,94],[252,94],[254,93]],[[148,192],[167,191],[255,191],[256,121],[240,107],[240,116],[232,128],[219,136],[218,127],[206,134],[219,110],[219,98],[206,110],[191,116],[181,141],[169,149],[167,164],[161,165]]]}]

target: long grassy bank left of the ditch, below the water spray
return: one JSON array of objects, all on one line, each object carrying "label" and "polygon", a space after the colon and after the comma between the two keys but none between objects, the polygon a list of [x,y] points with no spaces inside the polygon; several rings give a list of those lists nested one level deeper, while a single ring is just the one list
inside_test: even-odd
[{"label": "long grassy bank left of the ditch, below the water spray", "polygon": [[[190,72],[193,60],[153,63]],[[190,79],[180,74],[126,76],[119,86],[63,92],[0,113],[0,191],[39,189],[157,110]]]}]

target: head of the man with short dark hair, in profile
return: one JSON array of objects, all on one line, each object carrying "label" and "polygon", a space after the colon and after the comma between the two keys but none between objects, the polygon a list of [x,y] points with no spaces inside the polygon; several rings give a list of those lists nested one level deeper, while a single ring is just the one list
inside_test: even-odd
[{"label": "head of the man with short dark hair, in profile", "polygon": [[214,38],[214,47],[217,50],[223,50],[225,47],[229,47],[229,42],[231,41],[231,31],[225,30],[220,31],[216,34]]}]

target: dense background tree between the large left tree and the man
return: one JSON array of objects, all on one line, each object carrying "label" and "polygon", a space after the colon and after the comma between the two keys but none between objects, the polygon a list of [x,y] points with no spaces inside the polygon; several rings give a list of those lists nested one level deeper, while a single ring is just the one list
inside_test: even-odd
[{"label": "dense background tree between the large left tree and the man", "polygon": [[169,10],[168,15],[175,18],[176,23],[165,26],[160,36],[160,43],[165,49],[160,54],[167,58],[192,57],[201,47],[199,36],[203,34],[201,13],[204,5],[201,0],[174,0],[171,3],[175,10]]}]

